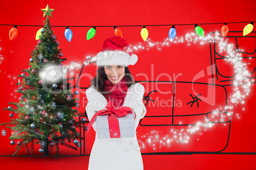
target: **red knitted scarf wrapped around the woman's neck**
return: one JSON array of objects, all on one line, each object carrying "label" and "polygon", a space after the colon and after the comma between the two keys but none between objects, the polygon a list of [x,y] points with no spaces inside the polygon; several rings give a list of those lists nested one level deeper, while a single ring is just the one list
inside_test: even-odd
[{"label": "red knitted scarf wrapped around the woman's neck", "polygon": [[104,97],[108,102],[111,100],[114,107],[122,107],[124,104],[124,98],[127,94],[127,89],[128,87],[125,77],[117,84],[113,84],[109,80],[106,80],[104,84],[104,91],[110,92],[110,94],[104,95]]}]

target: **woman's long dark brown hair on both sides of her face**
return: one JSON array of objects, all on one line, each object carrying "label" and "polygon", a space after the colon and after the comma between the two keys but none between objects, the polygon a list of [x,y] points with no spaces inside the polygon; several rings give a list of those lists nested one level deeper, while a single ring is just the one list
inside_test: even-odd
[{"label": "woman's long dark brown hair on both sides of her face", "polygon": [[[132,86],[132,84],[134,84],[134,79],[128,67],[125,67],[124,71],[124,78],[127,82],[127,87],[129,88]],[[104,65],[99,66],[99,69],[97,69],[97,75],[91,80],[91,86],[94,86],[99,93],[105,94],[106,92],[104,92],[104,85],[107,79],[108,77],[105,73]]]}]

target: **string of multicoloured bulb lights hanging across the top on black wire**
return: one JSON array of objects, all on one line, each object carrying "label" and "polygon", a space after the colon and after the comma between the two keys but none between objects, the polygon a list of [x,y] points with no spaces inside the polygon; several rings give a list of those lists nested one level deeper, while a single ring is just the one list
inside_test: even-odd
[{"label": "string of multicoloured bulb lights hanging across the top on black wire", "polygon": [[[195,27],[195,32],[197,36],[199,37],[204,37],[204,29],[200,27],[199,25],[217,25],[217,24],[223,24],[222,27],[220,28],[221,35],[223,37],[227,36],[229,33],[229,26],[227,24],[232,24],[232,23],[247,23],[243,29],[243,36],[246,36],[250,34],[253,30],[253,23],[254,22],[225,22],[225,23],[181,23],[181,24],[160,24],[160,25],[97,25],[97,26],[90,26],[90,25],[73,25],[73,26],[64,26],[64,25],[52,25],[51,27],[66,27],[64,36],[66,39],[70,42],[72,37],[73,37],[73,32],[69,27],[91,27],[87,31],[87,40],[92,39],[96,35],[96,27],[113,27],[114,28],[114,35],[115,36],[120,36],[123,37],[123,32],[120,29],[120,27],[142,27],[141,29],[141,37],[143,41],[146,41],[148,39],[148,29],[146,27],[171,27],[171,29],[168,32],[168,36],[170,41],[173,41],[173,39],[176,37],[176,27],[175,26],[183,26],[183,25],[194,25]],[[0,24],[0,25],[5,25],[5,26],[12,26],[11,24]],[[13,24],[14,25],[14,24]],[[13,28],[10,29],[9,31],[9,38],[10,40],[13,40],[15,37],[18,35],[18,28],[17,27],[43,27],[43,25],[14,25]],[[43,29],[43,28],[41,28]],[[39,36],[41,35],[41,29],[39,29],[36,32],[36,40],[39,39]]]}]

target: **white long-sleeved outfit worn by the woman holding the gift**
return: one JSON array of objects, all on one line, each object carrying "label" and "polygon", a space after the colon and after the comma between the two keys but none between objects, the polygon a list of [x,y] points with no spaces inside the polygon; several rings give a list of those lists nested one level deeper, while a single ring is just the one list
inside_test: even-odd
[{"label": "white long-sleeved outfit worn by the woman holding the gift", "polygon": [[[123,107],[130,107],[136,113],[134,137],[132,138],[97,138],[96,121],[92,124],[96,138],[90,152],[89,170],[143,170],[143,161],[136,137],[139,119],[146,114],[143,104],[145,88],[132,84],[127,89]],[[106,98],[96,88],[90,86],[86,91],[87,106],[85,108],[89,121],[97,111],[106,109]],[[96,118],[97,119],[97,118]]]}]

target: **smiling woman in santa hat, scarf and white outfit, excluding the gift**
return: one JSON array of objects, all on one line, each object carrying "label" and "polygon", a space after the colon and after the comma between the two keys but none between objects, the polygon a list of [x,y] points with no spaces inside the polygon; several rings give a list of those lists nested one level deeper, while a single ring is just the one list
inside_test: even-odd
[{"label": "smiling woman in santa hat, scarf and white outfit, excluding the gift", "polygon": [[[134,84],[128,65],[134,65],[138,56],[124,52],[127,42],[122,37],[106,39],[103,50],[97,54],[97,75],[92,79],[92,86],[87,91],[88,104],[85,108],[89,121],[96,131],[96,139],[90,153],[89,170],[129,169],[142,170],[143,161],[136,138],[136,128],[139,119],[146,114],[143,105],[145,88]],[[134,137],[98,138],[96,121],[92,117],[96,112],[105,110],[109,102],[115,108],[129,107],[134,115]],[[97,119],[97,118],[96,118]]]}]

